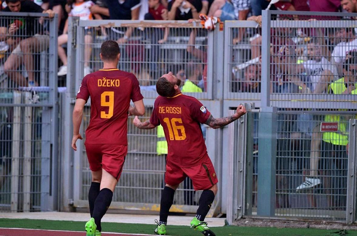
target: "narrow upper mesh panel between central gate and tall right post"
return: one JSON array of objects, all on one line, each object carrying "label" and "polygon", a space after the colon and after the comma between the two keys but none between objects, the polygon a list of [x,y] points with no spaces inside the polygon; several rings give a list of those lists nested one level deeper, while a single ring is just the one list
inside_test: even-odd
[{"label": "narrow upper mesh panel between central gate and tall right post", "polygon": [[260,100],[261,29],[251,21],[225,23],[225,98]]}]

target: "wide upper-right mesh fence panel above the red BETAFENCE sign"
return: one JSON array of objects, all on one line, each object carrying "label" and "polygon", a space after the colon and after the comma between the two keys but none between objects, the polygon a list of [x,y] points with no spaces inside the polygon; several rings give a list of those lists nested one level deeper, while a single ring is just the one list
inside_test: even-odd
[{"label": "wide upper-right mesh fence panel above the red BETAFENCE sign", "polygon": [[274,11],[270,19],[272,105],[356,109],[355,20]]}]

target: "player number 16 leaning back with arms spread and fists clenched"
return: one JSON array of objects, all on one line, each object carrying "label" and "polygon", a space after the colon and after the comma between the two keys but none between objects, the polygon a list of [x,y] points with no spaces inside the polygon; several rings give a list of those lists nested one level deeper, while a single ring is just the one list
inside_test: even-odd
[{"label": "player number 16 leaning back with arms spread and fists clenched", "polygon": [[156,91],[160,96],[155,100],[150,120],[140,122],[136,116],[133,121],[139,129],[154,129],[161,124],[168,145],[166,185],[161,195],[160,221],[155,233],[166,234],[167,216],[174,201],[175,190],[188,176],[195,190],[203,190],[191,227],[205,236],[215,236],[204,220],[217,194],[218,180],[207,155],[200,123],[213,129],[221,128],[244,115],[246,109],[239,105],[234,115],[215,119],[200,101],[183,95],[180,84],[181,80],[172,72],[163,75],[156,83]]}]

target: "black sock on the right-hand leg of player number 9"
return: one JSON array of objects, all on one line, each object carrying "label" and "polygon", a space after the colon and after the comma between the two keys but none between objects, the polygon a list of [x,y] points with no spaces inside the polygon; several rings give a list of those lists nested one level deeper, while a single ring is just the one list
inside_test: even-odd
[{"label": "black sock on the right-hand leg of player number 9", "polygon": [[110,206],[111,200],[113,198],[113,192],[110,189],[100,190],[97,199],[94,202],[93,218],[94,222],[97,225],[97,230],[102,231],[102,226],[100,221],[103,218],[105,212],[107,212],[108,207]]}]

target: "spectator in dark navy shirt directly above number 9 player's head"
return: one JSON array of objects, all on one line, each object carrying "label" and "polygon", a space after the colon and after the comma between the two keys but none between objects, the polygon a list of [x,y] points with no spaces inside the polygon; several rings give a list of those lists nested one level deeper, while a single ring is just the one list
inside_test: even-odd
[{"label": "spectator in dark navy shirt directly above number 9 player's head", "polygon": [[[111,20],[138,20],[141,3],[140,0],[107,0],[109,9],[109,19]],[[128,27],[125,32],[111,27],[109,37],[117,40],[118,44],[125,44],[131,33],[132,27]]]}]

